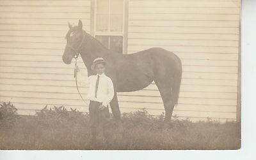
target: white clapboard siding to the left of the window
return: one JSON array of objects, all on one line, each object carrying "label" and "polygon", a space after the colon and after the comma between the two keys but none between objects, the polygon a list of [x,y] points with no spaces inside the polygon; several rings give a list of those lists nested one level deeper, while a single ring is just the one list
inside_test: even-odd
[{"label": "white clapboard siding to the left of the window", "polygon": [[[74,82],[74,63],[61,60],[68,22],[90,33],[91,1],[0,1],[0,101],[20,114],[45,105],[84,109]],[[81,59],[78,62],[84,68]],[[81,90],[87,87],[80,87]],[[66,99],[63,101],[63,99]],[[67,103],[66,103],[67,102]],[[70,106],[69,106],[70,107]],[[88,108],[87,108],[88,109]]]}]

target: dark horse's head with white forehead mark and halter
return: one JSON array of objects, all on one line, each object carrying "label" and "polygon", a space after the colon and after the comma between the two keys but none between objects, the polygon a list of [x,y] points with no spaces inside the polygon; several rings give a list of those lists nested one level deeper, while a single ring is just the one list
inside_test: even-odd
[{"label": "dark horse's head with white forehead mark and halter", "polygon": [[73,58],[78,57],[85,36],[81,20],[79,20],[77,26],[72,27],[68,24],[68,27],[69,30],[65,37],[67,39],[67,45],[62,55],[62,61],[65,64],[70,64]]}]

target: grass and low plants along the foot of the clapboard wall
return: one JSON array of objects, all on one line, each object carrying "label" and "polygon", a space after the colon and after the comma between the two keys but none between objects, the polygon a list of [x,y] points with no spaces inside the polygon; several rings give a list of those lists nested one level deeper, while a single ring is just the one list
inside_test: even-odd
[{"label": "grass and low plants along the foot of the clapboard wall", "polygon": [[90,145],[88,115],[65,108],[44,108],[36,116],[16,116],[0,130],[0,149],[239,149],[240,125],[236,122],[191,122],[152,117],[147,110],[122,115],[115,121],[107,146],[102,134]]}]

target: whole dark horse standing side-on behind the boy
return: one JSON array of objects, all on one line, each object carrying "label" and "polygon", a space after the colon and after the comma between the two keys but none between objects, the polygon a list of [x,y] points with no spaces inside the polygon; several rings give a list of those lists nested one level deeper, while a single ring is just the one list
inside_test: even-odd
[{"label": "whole dark horse standing side-on behind the boy", "polygon": [[170,120],[177,104],[182,75],[179,57],[163,48],[149,48],[134,54],[118,54],[104,47],[98,40],[83,31],[81,20],[77,26],[70,28],[66,38],[67,46],[62,56],[65,64],[81,55],[88,70],[93,75],[92,62],[103,57],[107,62],[106,75],[113,80],[115,96],[110,103],[116,119],[120,119],[120,109],[116,92],[132,92],[144,89],[153,80],[157,85],[165,109],[165,120]]}]

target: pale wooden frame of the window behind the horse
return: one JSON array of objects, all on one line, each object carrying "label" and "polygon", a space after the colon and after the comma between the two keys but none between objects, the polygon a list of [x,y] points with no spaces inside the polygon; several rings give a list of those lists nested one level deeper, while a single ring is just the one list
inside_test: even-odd
[{"label": "pale wooden frame of the window behind the horse", "polygon": [[[91,0],[91,27],[90,33],[95,38],[95,36],[122,36],[123,37],[123,53],[127,54],[127,36],[128,36],[128,1],[123,1],[123,26],[121,32],[113,31],[97,31],[97,0]],[[110,4],[110,1],[109,1]],[[110,10],[109,10],[110,13]],[[108,19],[108,27],[110,27],[110,16]]]}]

